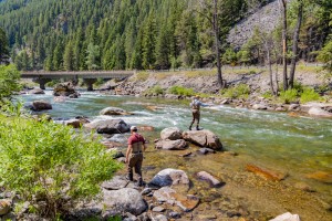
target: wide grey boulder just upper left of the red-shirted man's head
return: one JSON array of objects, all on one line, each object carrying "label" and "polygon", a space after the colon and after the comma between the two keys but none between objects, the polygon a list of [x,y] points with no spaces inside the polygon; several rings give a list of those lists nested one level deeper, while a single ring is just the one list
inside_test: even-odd
[{"label": "wide grey boulder just upper left of the red-shirted man's head", "polygon": [[123,119],[94,120],[90,124],[85,124],[84,127],[96,129],[98,134],[123,134],[131,130],[131,126]]}]

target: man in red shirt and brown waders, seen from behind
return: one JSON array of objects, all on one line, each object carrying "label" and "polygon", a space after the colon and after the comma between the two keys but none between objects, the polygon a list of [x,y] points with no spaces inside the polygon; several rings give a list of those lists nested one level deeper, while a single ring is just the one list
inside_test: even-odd
[{"label": "man in red shirt and brown waders, seen from behind", "polygon": [[145,139],[142,135],[137,133],[137,127],[131,127],[131,137],[128,138],[128,148],[126,151],[126,164],[127,164],[127,179],[133,181],[133,167],[135,168],[135,173],[137,173],[137,186],[143,186],[142,179],[142,162],[143,162],[143,151],[146,149]]}]

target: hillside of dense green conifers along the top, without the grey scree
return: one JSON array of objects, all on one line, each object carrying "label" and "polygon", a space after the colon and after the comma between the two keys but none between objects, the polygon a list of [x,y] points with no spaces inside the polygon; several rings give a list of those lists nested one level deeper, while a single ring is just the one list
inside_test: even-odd
[{"label": "hillside of dense green conifers along the top, without the grey scree", "polygon": [[[297,1],[300,0],[292,2]],[[0,1],[0,28],[7,32],[12,60],[20,70],[148,70],[212,66],[216,60],[212,2],[210,0]],[[221,43],[224,63],[263,62],[261,59],[264,56],[263,50],[260,49],[259,42],[251,41],[240,51],[235,51],[226,39],[229,30],[248,15],[248,11],[255,11],[255,7],[259,8],[266,3],[268,1],[264,0],[218,1],[218,39]],[[294,9],[295,4],[290,4],[290,33],[297,21]],[[311,14],[310,11],[313,9],[320,13]],[[328,39],[331,9],[329,0],[314,0],[305,4],[305,27],[303,25],[302,33],[305,34],[307,29],[312,30],[309,34],[314,36],[309,39],[318,41],[319,35],[320,46],[323,46]],[[278,31],[281,33],[280,29]],[[301,44],[307,45],[308,42]]]}]

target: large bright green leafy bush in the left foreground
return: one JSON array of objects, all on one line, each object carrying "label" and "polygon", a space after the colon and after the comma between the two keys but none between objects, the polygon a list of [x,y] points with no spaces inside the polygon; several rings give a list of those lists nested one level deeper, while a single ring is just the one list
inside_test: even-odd
[{"label": "large bright green leafy bush in the left foreground", "polygon": [[32,210],[55,218],[77,200],[100,192],[100,182],[121,168],[93,137],[45,120],[0,115],[0,186]]}]

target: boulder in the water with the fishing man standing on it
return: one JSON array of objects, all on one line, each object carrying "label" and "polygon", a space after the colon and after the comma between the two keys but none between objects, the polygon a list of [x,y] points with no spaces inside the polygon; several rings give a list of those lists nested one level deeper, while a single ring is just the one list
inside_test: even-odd
[{"label": "boulder in the water with the fishing man standing on it", "polygon": [[199,147],[208,147],[215,150],[222,149],[222,144],[219,137],[207,129],[184,131],[183,137],[186,141]]}]

